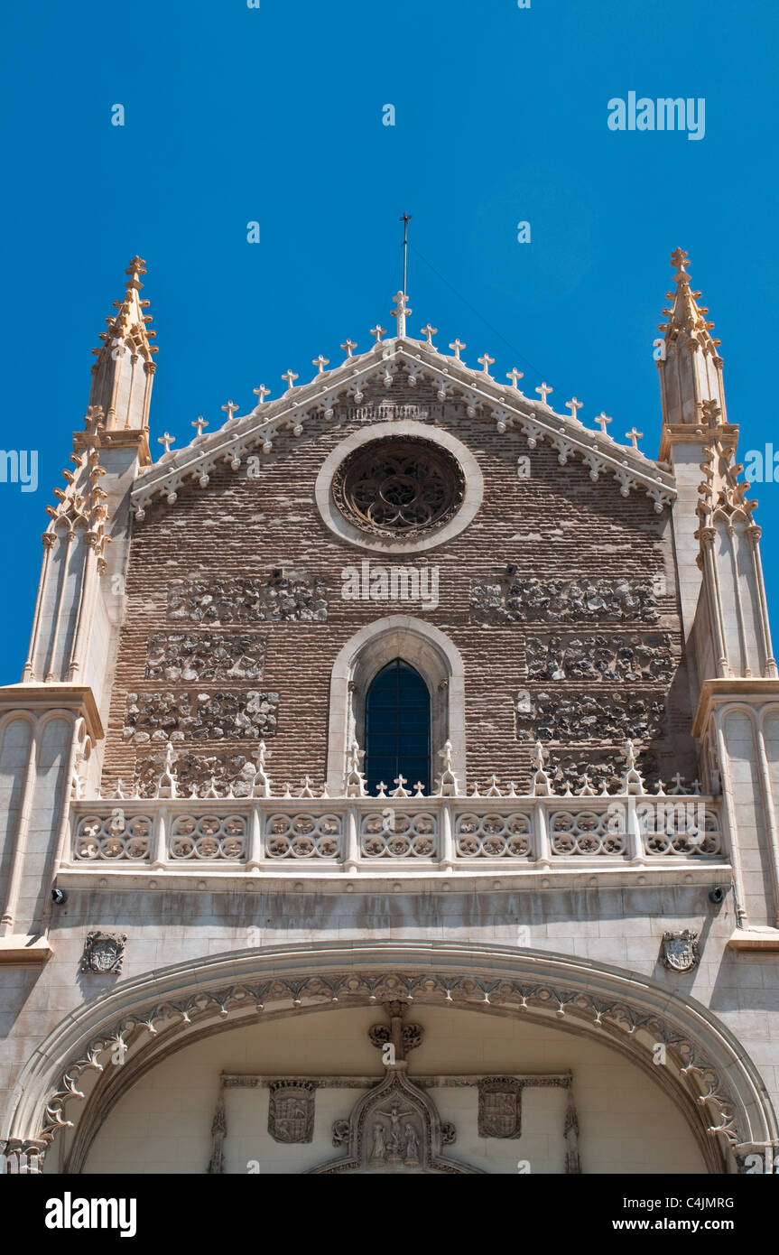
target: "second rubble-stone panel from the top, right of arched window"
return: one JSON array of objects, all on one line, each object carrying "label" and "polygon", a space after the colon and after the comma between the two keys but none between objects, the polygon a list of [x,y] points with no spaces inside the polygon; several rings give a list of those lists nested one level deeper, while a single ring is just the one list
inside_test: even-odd
[{"label": "second rubble-stone panel from the top, right of arched window", "polygon": [[671,639],[662,635],[528,636],[531,680],[670,683]]}]

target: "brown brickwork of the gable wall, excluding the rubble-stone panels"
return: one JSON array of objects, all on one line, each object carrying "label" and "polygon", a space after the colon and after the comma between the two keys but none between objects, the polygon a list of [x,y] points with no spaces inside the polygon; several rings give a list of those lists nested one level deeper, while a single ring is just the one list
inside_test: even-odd
[{"label": "brown brickwork of the gable wall, excluding the rubble-stone panels", "polygon": [[[391,399],[414,405],[434,402],[424,389],[366,390],[366,403]],[[651,631],[669,635],[675,675],[671,684],[608,681],[608,692],[656,698],[667,705],[665,730],[651,747],[651,757],[667,781],[681,771],[697,771],[689,735],[691,710],[685,660],[681,656],[680,616],[674,571],[670,516],[655,513],[654,502],[641,492],[625,498],[608,476],[598,483],[578,461],[562,467],[557,453],[541,444],[529,449],[524,435],[498,434],[494,423],[477,415],[468,419],[462,405],[452,405],[445,428],[477,458],[484,476],[484,501],[474,521],[440,548],[403,558],[373,555],[340,541],[322,522],[314,498],[320,467],[330,452],[365,422],[324,415],[309,419],[304,433],[280,433],[271,454],[260,454],[260,474],[247,476],[228,466],[212,472],[207,488],[187,484],[173,506],[157,503],[134,526],[125,584],[128,609],[120,634],[115,683],[108,723],[103,786],[113,788],[117,776],[133,778],[142,748],[123,737],[128,694],[161,689],[159,679],[146,678],[148,646],[161,631],[198,631],[236,635],[256,631],[265,643],[261,684],[250,688],[278,694],[277,730],[268,740],[268,771],[276,784],[292,786],[307,773],[317,784],[325,778],[327,708],[332,663],[341,646],[363,626],[386,615],[408,612],[434,624],[459,649],[465,664],[465,730],[468,778],[487,779],[493,772],[504,782],[527,784],[531,745],[517,737],[517,694],[527,690],[597,693],[602,683],[529,681],[526,639],[544,638],[554,622],[483,624],[470,606],[475,582],[498,581],[507,563],[516,579],[539,581],[602,580],[623,577],[652,582],[665,577],[666,594],[655,601],[657,616],[626,625],[590,619],[580,635],[593,633]],[[432,427],[435,424],[432,423]],[[529,458],[529,478],[519,478],[517,458]],[[439,569],[439,605],[347,601],[341,597],[341,572],[370,558],[371,566],[404,565]],[[256,624],[197,624],[171,617],[168,590],[174,581],[251,579],[267,580],[273,569],[305,572],[326,589],[326,621],[261,621]],[[566,635],[577,624],[564,622]],[[194,692],[192,683],[164,683],[166,692]],[[241,693],[241,681],[222,678],[197,681],[197,692]],[[181,749],[223,754],[231,748],[246,754],[253,743],[226,740],[179,743]],[[563,747],[564,748],[564,747]],[[582,758],[587,742],[577,742]],[[601,747],[602,750],[602,747]]]}]

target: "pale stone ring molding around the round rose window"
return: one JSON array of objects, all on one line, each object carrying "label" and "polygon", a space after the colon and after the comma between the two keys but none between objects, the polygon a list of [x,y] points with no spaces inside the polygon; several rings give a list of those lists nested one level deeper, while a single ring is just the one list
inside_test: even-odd
[{"label": "pale stone ring molding around the round rose window", "polygon": [[[465,492],[463,501],[454,515],[443,527],[430,528],[430,533],[421,535],[414,540],[390,538],[386,536],[371,536],[350,523],[341,515],[332,499],[332,477],[345,458],[355,449],[373,441],[388,439],[404,435],[418,437],[429,444],[438,444],[447,449],[459,462],[465,477]],[[371,423],[360,428],[351,435],[341,441],[322,463],[316,477],[314,489],[316,506],[324,522],[339,540],[347,541],[358,548],[369,550],[371,553],[393,553],[398,556],[408,553],[424,553],[428,550],[444,545],[473,522],[484,497],[484,477],[479,463],[473,453],[462,441],[458,441],[449,432],[440,427],[432,427],[429,423],[418,423],[413,419],[401,419],[395,423]]]}]

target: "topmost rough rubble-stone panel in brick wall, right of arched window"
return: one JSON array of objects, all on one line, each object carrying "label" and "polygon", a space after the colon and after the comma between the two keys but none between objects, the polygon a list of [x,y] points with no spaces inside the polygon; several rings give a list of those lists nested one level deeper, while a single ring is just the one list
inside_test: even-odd
[{"label": "topmost rough rubble-stone panel in brick wall, right of arched window", "polygon": [[657,599],[646,580],[474,580],[470,617],[477,624],[657,622]]}]

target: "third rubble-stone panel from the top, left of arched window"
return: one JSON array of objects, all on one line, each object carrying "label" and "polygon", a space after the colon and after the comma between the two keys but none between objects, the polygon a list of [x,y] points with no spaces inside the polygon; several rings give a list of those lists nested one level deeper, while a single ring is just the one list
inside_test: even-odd
[{"label": "third rubble-stone panel from the top, left of arched window", "polygon": [[124,738],[258,740],[276,734],[277,713],[277,693],[128,693]]}]

